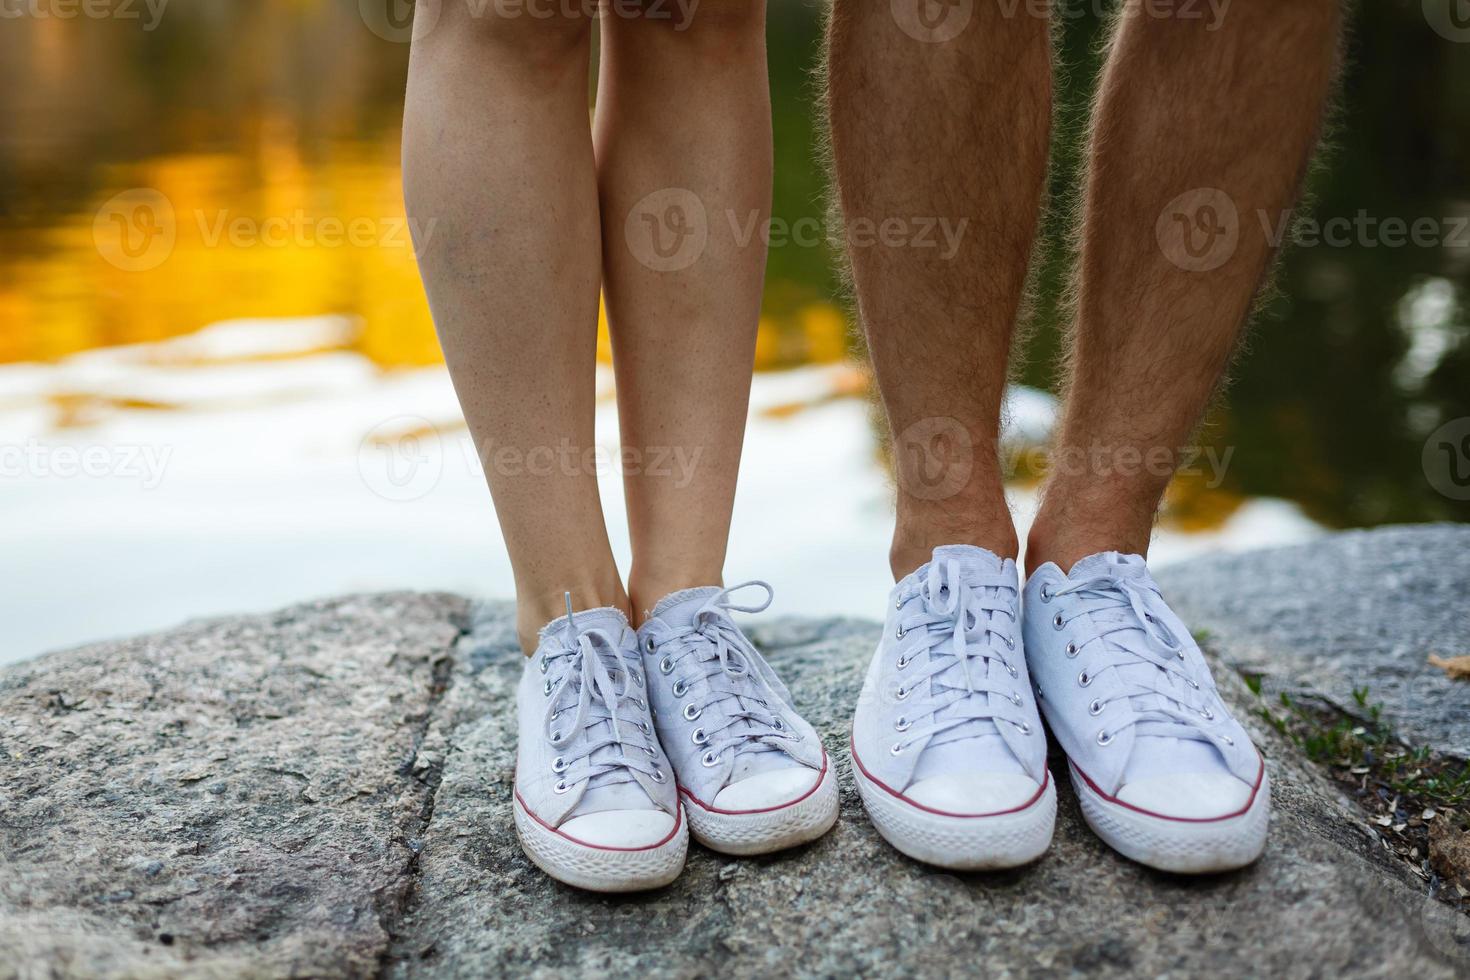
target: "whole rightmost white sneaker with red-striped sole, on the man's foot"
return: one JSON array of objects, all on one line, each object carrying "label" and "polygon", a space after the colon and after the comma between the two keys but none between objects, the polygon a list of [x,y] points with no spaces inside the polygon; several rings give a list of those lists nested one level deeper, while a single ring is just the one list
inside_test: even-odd
[{"label": "whole rightmost white sneaker with red-striped sole, on the man's foot", "polygon": [[1164,871],[1226,871],[1266,848],[1270,780],[1189,629],[1139,555],[1105,551],[1026,583],[1026,658],[1092,830]]}]

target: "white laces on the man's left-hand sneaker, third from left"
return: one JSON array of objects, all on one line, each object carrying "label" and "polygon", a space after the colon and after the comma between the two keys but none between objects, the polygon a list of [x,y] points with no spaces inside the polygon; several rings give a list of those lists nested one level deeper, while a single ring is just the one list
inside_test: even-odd
[{"label": "white laces on the man's left-hand sneaker, third from left", "polygon": [[[989,723],[997,732],[1004,721],[1023,735],[1030,733],[1030,726],[1016,711],[1023,704],[1020,693],[1005,679],[992,679],[988,667],[988,661],[994,661],[1010,680],[1020,676],[1010,663],[1016,649],[1016,607],[1014,598],[1005,598],[1007,592],[1016,592],[1008,576],[997,572],[970,574],[966,580],[960,563],[951,558],[932,563],[919,588],[900,598],[900,608],[913,605],[914,599],[922,604],[908,610],[898,624],[900,641],[914,638],[900,649],[898,670],[907,671],[920,658],[925,663],[903,674],[895,696],[906,699],[925,688],[928,696],[898,718],[897,727],[904,738],[894,743],[895,755],[945,733],[953,732],[957,738],[983,733],[967,727],[976,721]],[[928,724],[917,724],[926,718]]]}]

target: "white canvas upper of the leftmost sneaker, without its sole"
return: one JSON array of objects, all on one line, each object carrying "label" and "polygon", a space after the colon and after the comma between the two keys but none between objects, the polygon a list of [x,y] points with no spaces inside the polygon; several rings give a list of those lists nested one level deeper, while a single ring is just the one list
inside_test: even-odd
[{"label": "white canvas upper of the leftmost sneaker, without its sole", "polygon": [[567,613],[539,633],[517,689],[516,793],[581,843],[639,848],[675,829],[638,642],[616,608]]}]

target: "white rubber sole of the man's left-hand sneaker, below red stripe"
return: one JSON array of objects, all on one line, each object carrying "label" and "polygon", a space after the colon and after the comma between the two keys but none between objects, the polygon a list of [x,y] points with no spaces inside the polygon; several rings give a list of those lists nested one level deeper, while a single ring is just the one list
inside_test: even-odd
[{"label": "white rubber sole of the man's left-hand sneaker, below red stripe", "polygon": [[1030,864],[1051,846],[1057,826],[1057,785],[1051,773],[1025,807],[973,817],[939,814],[904,799],[867,776],[856,754],[853,779],[883,840],[914,861],[951,871],[995,871]]}]

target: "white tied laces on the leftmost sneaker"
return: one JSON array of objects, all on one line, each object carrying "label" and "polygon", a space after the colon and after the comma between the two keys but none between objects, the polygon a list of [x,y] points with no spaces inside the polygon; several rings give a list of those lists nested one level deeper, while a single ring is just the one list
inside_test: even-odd
[{"label": "white tied laces on the leftmost sneaker", "polygon": [[[563,779],[557,785],[559,790],[566,792],[566,788],[595,779],[604,773],[628,770],[639,771],[657,782],[663,782],[663,774],[659,773],[653,761],[656,751],[650,742],[651,729],[642,723],[634,723],[634,730],[642,735],[642,743],[628,742],[623,739],[625,721],[617,716],[617,707],[625,699],[639,702],[639,698],[632,693],[631,685],[638,679],[638,686],[641,688],[642,676],[637,667],[628,664],[617,648],[617,641],[607,630],[582,630],[576,627],[570,597],[567,597],[566,614],[566,632],[563,633],[562,649],[544,654],[544,673],[550,673],[563,660],[566,661],[566,670],[559,679],[547,682],[550,686],[550,699],[547,701],[542,733],[547,742],[556,749],[567,749],[576,745],[575,751],[557,757],[553,770],[559,774],[566,773],[584,758],[589,760],[589,764],[575,779]],[[562,704],[567,692],[575,693],[575,705]],[[557,707],[559,704],[562,704],[560,708]],[[576,713],[572,721],[559,726],[556,721],[557,717],[572,710]],[[607,727],[601,736],[584,738],[584,733],[600,729],[604,721]],[[581,743],[578,743],[579,739],[582,739]],[[628,755],[629,745],[642,749],[642,757]],[[591,755],[604,748],[612,748],[613,752],[592,763]]]}]

